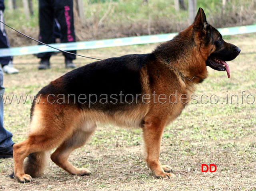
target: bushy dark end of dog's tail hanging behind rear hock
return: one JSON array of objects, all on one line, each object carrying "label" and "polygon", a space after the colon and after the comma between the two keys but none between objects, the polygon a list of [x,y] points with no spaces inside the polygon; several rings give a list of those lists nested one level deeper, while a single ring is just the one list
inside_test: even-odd
[{"label": "bushy dark end of dog's tail hanging behind rear hock", "polygon": [[24,161],[24,171],[31,177],[42,175],[44,168],[48,164],[49,152],[41,151],[30,153]]}]

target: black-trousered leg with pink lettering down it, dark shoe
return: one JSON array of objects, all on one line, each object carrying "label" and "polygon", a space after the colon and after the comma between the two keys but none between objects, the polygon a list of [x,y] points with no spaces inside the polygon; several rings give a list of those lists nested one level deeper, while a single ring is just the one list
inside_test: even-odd
[{"label": "black-trousered leg with pink lettering down it, dark shoe", "polygon": [[[60,24],[60,41],[75,42],[76,35],[74,31],[74,15],[73,15],[73,1],[72,0],[56,0],[55,4],[55,16]],[[69,51],[76,53],[76,50]],[[72,60],[76,59],[76,55],[63,53],[65,56],[66,67],[74,68],[75,65]]]}]

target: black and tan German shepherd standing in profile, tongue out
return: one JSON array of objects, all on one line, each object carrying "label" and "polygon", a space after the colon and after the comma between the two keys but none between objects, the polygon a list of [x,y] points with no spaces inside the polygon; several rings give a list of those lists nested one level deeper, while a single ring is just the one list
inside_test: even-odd
[{"label": "black and tan German shepherd standing in profile, tongue out", "polygon": [[239,53],[199,8],[191,26],[152,53],[96,61],[66,73],[40,90],[40,102],[32,105],[28,138],[13,146],[16,179],[29,182],[42,174],[53,148],[50,158],[62,169],[90,175],[71,165],[68,156],[85,144],[97,122],[141,128],[148,167],[156,177],[174,177],[171,167],[159,161],[160,141],[164,127],[187,102],[175,103],[170,95],[189,98],[207,77],[206,66],[226,70],[230,77],[226,61]]}]

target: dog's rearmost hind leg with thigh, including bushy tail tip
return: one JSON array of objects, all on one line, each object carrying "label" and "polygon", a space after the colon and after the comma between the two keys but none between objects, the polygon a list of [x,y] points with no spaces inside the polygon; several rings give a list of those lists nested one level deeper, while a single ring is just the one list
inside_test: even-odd
[{"label": "dog's rearmost hind leg with thigh, including bushy tail tip", "polygon": [[[29,182],[32,181],[30,175],[40,175],[46,164],[46,152],[71,137],[79,120],[79,108],[61,104],[36,104],[28,138],[13,146],[16,179],[19,182]],[[30,156],[23,166],[23,161],[28,155]]]}]

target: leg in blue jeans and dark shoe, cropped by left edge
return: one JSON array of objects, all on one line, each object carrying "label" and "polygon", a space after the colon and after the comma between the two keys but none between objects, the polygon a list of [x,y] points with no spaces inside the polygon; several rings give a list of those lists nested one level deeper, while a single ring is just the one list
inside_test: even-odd
[{"label": "leg in blue jeans and dark shoe, cropped by left edge", "polygon": [[12,133],[4,128],[4,87],[3,87],[4,76],[0,67],[0,158],[12,157]]}]

